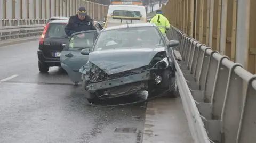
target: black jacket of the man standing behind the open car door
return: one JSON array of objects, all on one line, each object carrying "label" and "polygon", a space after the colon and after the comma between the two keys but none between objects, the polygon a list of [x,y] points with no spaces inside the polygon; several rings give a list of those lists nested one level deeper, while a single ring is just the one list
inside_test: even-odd
[{"label": "black jacket of the man standing behind the open car door", "polygon": [[96,30],[93,26],[93,19],[86,16],[84,20],[80,20],[78,15],[70,16],[67,26],[65,27],[65,32],[67,36],[71,36],[75,32]]}]

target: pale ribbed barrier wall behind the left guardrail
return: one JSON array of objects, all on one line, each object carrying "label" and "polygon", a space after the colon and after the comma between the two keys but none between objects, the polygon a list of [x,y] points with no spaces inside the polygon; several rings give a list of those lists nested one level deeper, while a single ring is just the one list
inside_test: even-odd
[{"label": "pale ribbed barrier wall behind the left guardrail", "polygon": [[[107,0],[106,0],[107,1]],[[108,5],[84,0],[1,0],[0,19],[47,19],[75,15],[84,6],[93,19],[103,19]]]}]

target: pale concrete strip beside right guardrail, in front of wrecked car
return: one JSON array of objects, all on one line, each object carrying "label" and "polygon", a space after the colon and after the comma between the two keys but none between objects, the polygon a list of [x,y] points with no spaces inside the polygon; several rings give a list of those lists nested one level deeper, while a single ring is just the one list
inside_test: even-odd
[{"label": "pale concrete strip beside right guardrail, in front of wrecked car", "polygon": [[143,143],[190,143],[186,114],[180,98],[158,98],[148,103]]}]

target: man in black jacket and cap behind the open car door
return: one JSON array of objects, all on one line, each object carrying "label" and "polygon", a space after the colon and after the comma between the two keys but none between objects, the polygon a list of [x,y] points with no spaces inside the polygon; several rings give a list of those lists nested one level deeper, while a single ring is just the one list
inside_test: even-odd
[{"label": "man in black jacket and cap behind the open car door", "polygon": [[75,32],[96,30],[93,19],[87,14],[85,7],[80,7],[74,16],[70,16],[65,32],[70,37]]}]

